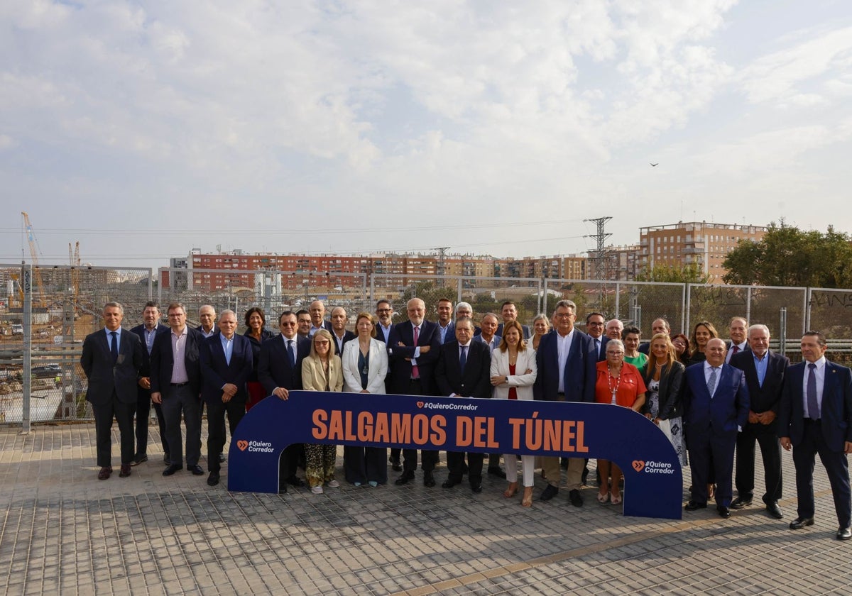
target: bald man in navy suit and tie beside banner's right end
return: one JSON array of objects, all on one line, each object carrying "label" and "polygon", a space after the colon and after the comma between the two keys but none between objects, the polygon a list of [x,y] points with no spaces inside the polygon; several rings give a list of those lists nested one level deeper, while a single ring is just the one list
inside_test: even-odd
[{"label": "bald man in navy suit and tie beside banner's right end", "polygon": [[707,507],[707,480],[715,474],[716,508],[722,518],[731,515],[734,446],[737,433],[748,422],[749,394],[743,371],[725,364],[725,342],[707,342],[707,360],[693,364],[683,387],[683,433],[692,470],[692,498],[687,511]]}]

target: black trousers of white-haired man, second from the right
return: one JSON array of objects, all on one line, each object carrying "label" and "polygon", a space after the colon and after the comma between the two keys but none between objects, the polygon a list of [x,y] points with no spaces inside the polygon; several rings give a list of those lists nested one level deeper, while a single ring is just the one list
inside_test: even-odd
[{"label": "black trousers of white-haired man, second from the right", "polygon": [[754,493],[754,445],[760,445],[763,457],[763,479],[766,492],[764,503],[774,503],[781,499],[781,444],[778,440],[778,424],[746,424],[742,433],[737,435],[737,467],[735,484],[740,499],[751,499]]}]

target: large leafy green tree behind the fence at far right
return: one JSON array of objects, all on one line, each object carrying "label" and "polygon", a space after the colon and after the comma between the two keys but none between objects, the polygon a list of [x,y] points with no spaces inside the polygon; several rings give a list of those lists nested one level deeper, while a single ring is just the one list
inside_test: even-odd
[{"label": "large leafy green tree behind the fence at far right", "polygon": [[772,222],[760,242],[740,240],[722,266],[726,284],[843,288],[852,282],[852,246],[832,226],[823,234]]}]

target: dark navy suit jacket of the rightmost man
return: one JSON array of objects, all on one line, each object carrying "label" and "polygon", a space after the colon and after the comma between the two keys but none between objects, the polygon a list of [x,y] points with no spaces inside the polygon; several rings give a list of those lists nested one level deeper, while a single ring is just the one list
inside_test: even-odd
[{"label": "dark navy suit jacket of the rightmost man", "polygon": [[[793,364],[786,371],[778,412],[778,436],[790,437],[793,446],[802,442],[804,433],[804,382],[806,362]],[[826,446],[843,451],[852,441],[852,371],[826,360],[826,381],[822,387],[820,427]]]}]

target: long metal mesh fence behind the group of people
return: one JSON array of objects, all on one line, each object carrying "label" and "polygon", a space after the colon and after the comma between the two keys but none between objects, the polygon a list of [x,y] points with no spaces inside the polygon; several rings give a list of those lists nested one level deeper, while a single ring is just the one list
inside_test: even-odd
[{"label": "long metal mesh fence behind the group of people", "polygon": [[[556,302],[572,300],[578,307],[577,325],[584,330],[589,312],[634,324],[642,336],[651,335],[655,318],[665,318],[673,332],[689,335],[701,320],[711,321],[727,337],[731,318],[762,323],[773,336],[773,348],[785,352],[797,347],[805,330],[826,334],[835,356],[852,349],[852,290],[767,288],[756,286],[613,282],[554,278],[495,278],[413,275],[400,272],[286,272],[273,270],[160,268],[34,267],[0,265],[5,295],[0,298],[0,422],[89,419],[84,400],[86,380],[79,367],[83,338],[103,326],[101,309],[107,301],[124,305],[124,328],[141,324],[149,300],[158,301],[165,314],[171,302],[187,308],[188,324],[199,325],[199,308],[210,304],[216,312],[237,312],[239,332],[250,307],[267,313],[267,328],[277,332],[277,318],[285,310],[308,310],[322,301],[326,318],[332,307],[344,307],[348,328],[355,313],[375,312],[386,299],[396,322],[407,318],[406,302],[413,297],[426,303],[426,317],[435,320],[441,298],[467,301],[479,322],[487,312],[500,315],[505,301],[513,301],[518,319],[530,324],[544,312],[550,316]],[[26,291],[25,291],[26,290]],[[26,301],[30,313],[26,315]],[[795,356],[796,349],[790,350]],[[837,358],[843,359],[843,358]]]}]

